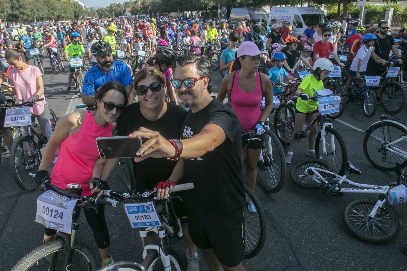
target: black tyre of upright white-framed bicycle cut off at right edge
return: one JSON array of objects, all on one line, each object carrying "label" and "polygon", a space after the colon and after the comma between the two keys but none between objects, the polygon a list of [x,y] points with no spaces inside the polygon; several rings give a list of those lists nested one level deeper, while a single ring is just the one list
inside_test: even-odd
[{"label": "black tyre of upright white-framed bicycle cut off at right edge", "polygon": [[[383,128],[383,124],[386,125],[385,128]],[[388,127],[395,128],[394,137],[392,137],[392,133]],[[386,129],[386,135],[383,134],[383,129]],[[396,162],[400,163],[402,168],[406,167],[406,157],[394,156],[394,152],[390,152],[383,148],[383,143],[393,142],[399,139],[401,134],[405,132],[407,132],[407,130],[403,126],[390,121],[383,121],[383,123],[379,122],[371,125],[365,134],[365,138],[363,139],[363,152],[365,152],[365,156],[368,158],[368,161],[374,167],[384,171],[396,171]],[[379,141],[379,139],[381,140]],[[372,147],[368,148],[370,143],[372,143]],[[403,144],[403,141],[401,141],[399,144]],[[407,143],[405,143],[404,147],[401,146],[401,149],[407,150]],[[372,150],[372,152],[369,150]],[[394,157],[394,159],[387,162],[387,159],[392,157]],[[403,159],[404,162],[402,162]]]}]

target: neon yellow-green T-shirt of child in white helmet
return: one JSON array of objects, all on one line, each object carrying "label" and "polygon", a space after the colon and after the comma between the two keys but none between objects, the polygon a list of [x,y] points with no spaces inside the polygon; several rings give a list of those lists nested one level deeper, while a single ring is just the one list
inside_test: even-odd
[{"label": "neon yellow-green T-shirt of child in white helmet", "polygon": [[[302,93],[308,94],[310,97],[314,96],[314,92],[324,89],[324,82],[322,80],[316,80],[315,77],[310,74],[302,79],[301,84],[298,86],[302,89]],[[301,113],[308,113],[318,108],[318,102],[310,100],[301,100],[301,97],[297,98],[296,110]]]}]

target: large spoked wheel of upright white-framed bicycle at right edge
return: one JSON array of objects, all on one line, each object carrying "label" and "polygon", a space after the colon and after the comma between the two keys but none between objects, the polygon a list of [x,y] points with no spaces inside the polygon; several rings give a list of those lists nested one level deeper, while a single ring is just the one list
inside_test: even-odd
[{"label": "large spoked wheel of upright white-framed bicycle at right edge", "polygon": [[401,167],[407,166],[407,157],[402,153],[407,150],[407,141],[392,143],[406,133],[407,130],[403,126],[390,121],[370,126],[363,139],[366,158],[372,165],[384,171],[395,171],[396,163]]}]

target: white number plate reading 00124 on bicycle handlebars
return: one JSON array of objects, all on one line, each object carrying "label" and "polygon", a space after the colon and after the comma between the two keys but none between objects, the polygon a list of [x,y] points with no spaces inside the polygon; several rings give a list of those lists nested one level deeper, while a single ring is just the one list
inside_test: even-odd
[{"label": "white number plate reading 00124 on bicycle handlebars", "polygon": [[70,234],[72,229],[72,214],[78,199],[70,199],[46,191],[37,199],[37,215],[35,222],[46,228]]}]

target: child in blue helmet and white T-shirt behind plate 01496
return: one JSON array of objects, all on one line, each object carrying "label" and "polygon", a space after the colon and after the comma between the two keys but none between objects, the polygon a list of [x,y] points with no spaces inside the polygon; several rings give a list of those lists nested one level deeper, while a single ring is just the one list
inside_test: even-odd
[{"label": "child in blue helmet and white T-shirt behind plate 01496", "polygon": [[350,86],[352,85],[355,78],[359,81],[359,87],[365,85],[365,81],[362,76],[365,75],[366,69],[368,67],[368,61],[370,55],[373,51],[373,45],[376,42],[377,37],[372,33],[366,33],[362,36],[362,46],[356,53],[356,56],[352,60],[352,65],[350,66],[349,79],[346,82],[345,90],[352,95]]}]

